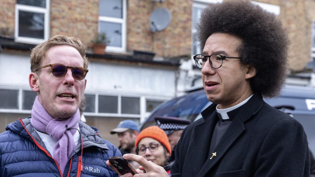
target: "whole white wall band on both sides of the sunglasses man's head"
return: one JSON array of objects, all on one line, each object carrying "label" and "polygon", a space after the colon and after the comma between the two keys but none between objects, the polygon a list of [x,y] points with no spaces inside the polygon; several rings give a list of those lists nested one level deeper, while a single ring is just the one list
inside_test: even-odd
[{"label": "whole white wall band on both sides of the sunglasses man's head", "polygon": [[[0,86],[29,88],[27,54],[0,53]],[[86,91],[175,96],[175,70],[89,63]]]}]

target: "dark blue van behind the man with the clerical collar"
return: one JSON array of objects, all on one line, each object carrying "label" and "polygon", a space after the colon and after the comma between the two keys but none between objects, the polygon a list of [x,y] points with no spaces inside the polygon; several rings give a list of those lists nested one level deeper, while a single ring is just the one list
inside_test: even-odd
[{"label": "dark blue van behind the man with the clerical collar", "polygon": [[[315,152],[315,88],[286,86],[278,98],[264,100],[269,105],[290,114],[303,125],[309,147]],[[200,112],[211,104],[202,88],[193,90],[157,106],[142,124],[141,130],[154,125],[156,116],[180,117],[195,121],[201,118]]]}]

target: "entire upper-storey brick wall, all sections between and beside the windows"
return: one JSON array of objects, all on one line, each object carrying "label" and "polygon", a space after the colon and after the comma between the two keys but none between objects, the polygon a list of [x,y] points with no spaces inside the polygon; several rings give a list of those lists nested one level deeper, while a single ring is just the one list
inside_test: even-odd
[{"label": "entire upper-storey brick wall, all sections between and beside the windows", "polygon": [[[313,0],[256,0],[280,6],[279,17],[289,32],[290,70],[300,71],[310,61]],[[0,31],[14,35],[15,0],[0,0]],[[97,34],[98,0],[51,0],[50,36],[80,38],[85,45]],[[149,18],[155,8],[169,9],[172,20],[164,31],[151,32]],[[127,0],[127,51],[143,50],[157,56],[190,55],[192,0]],[[3,32],[2,32],[3,33]]]}]

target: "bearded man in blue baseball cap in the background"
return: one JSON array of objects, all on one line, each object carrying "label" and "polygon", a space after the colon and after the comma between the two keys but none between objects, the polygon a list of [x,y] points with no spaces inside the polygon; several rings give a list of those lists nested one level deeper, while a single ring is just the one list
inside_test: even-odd
[{"label": "bearded man in blue baseball cap in the background", "polygon": [[140,129],[133,120],[121,121],[116,128],[111,130],[111,134],[118,134],[118,141],[120,143],[119,151],[124,154],[136,154],[135,140]]}]

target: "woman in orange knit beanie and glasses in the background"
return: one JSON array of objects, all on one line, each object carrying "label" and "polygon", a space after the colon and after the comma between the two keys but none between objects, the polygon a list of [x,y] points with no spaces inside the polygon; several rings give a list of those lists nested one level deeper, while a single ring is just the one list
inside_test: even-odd
[{"label": "woman in orange knit beanie and glasses in the background", "polygon": [[[171,155],[167,135],[157,126],[142,130],[136,139],[135,147],[138,155],[163,167],[167,165],[167,158]],[[170,168],[165,170],[170,174]]]}]

